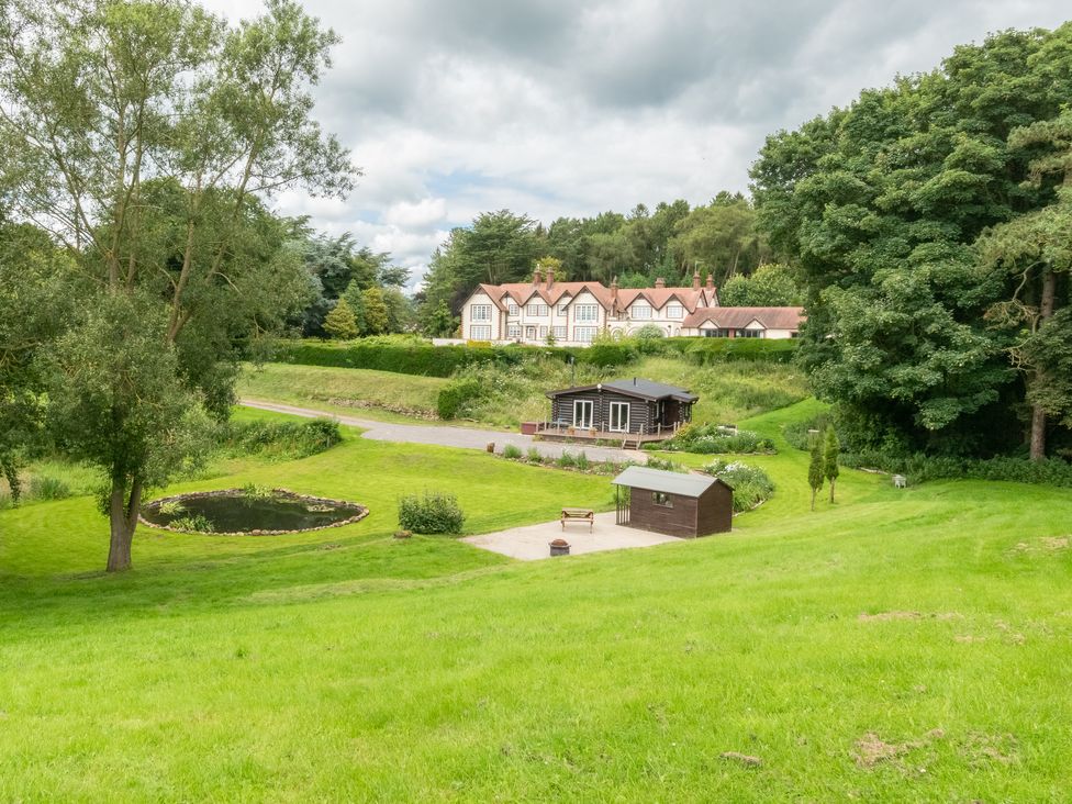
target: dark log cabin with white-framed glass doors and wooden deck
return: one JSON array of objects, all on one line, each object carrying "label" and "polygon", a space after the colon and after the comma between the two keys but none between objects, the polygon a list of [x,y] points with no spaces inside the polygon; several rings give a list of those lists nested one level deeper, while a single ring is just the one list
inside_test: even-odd
[{"label": "dark log cabin with white-framed glass doors and wooden deck", "polygon": [[555,427],[670,437],[692,421],[700,398],[688,389],[634,377],[549,391]]}]

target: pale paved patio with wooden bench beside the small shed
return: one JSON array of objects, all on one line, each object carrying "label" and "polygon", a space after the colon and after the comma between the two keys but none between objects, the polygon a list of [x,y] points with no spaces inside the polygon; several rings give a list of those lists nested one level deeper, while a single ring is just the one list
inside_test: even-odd
[{"label": "pale paved patio with wooden bench beside the small shed", "polygon": [[614,512],[595,515],[595,526],[589,533],[587,524],[569,524],[562,529],[558,520],[544,522],[539,525],[513,527],[498,533],[485,533],[480,536],[467,536],[467,541],[503,556],[518,558],[522,561],[535,561],[550,558],[548,543],[551,539],[563,538],[570,544],[570,555],[582,552],[599,552],[601,550],[622,550],[628,547],[651,547],[667,541],[679,541],[674,536],[663,536],[648,531],[638,531],[614,524]]}]

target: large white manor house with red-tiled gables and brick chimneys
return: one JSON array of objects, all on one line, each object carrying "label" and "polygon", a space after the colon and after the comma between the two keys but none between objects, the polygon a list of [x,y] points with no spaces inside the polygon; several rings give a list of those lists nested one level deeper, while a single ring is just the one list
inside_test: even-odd
[{"label": "large white manor house with red-tiled gables and brick chimneys", "polygon": [[532,282],[479,286],[461,308],[461,337],[498,343],[583,346],[600,333],[624,337],[655,325],[668,337],[792,338],[802,308],[724,308],[711,275],[692,287],[607,288],[602,282],[556,282],[539,268]]}]

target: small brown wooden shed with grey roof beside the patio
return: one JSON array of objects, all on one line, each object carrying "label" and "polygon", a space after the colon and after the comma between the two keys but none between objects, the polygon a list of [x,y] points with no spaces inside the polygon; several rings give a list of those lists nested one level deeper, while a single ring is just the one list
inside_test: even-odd
[{"label": "small brown wooden shed with grey roof beside the patio", "polygon": [[718,478],[630,466],[612,482],[619,525],[685,538],[733,528],[734,490]]}]

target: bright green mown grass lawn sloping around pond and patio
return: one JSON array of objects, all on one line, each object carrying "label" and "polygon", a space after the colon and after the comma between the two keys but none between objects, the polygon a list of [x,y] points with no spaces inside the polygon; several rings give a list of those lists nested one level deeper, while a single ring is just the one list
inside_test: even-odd
[{"label": "bright green mown grass lawn sloping around pond and patio", "polygon": [[779,440],[733,534],[534,563],[392,540],[394,500],[490,531],[606,479],[350,438],[187,487],[367,520],[142,531],[120,577],[88,498],[0,512],[0,800],[1065,800],[1072,495],[846,471],[811,513]]}]

